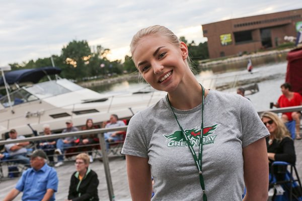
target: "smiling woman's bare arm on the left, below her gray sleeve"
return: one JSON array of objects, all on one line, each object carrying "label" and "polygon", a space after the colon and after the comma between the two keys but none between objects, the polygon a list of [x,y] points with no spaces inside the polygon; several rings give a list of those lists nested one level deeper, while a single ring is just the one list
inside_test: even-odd
[{"label": "smiling woman's bare arm on the left, below her gray sleeve", "polygon": [[126,164],[132,200],[150,200],[152,180],[148,159],[126,155]]}]

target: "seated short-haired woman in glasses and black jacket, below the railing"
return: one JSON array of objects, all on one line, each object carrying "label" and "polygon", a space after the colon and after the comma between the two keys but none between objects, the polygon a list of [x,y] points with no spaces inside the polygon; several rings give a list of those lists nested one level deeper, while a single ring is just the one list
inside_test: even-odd
[{"label": "seated short-haired woman in glasses and black jacket, below the railing", "polygon": [[77,171],[71,175],[68,199],[65,201],[98,201],[99,179],[97,173],[89,168],[89,155],[78,154],[74,165]]}]

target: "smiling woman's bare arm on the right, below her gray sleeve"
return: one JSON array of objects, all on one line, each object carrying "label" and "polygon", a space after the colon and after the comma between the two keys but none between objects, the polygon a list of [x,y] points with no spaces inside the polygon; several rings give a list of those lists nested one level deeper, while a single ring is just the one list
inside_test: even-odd
[{"label": "smiling woman's bare arm on the right, below her gray sleeve", "polygon": [[268,158],[265,139],[243,148],[245,201],[266,201],[268,198]]}]

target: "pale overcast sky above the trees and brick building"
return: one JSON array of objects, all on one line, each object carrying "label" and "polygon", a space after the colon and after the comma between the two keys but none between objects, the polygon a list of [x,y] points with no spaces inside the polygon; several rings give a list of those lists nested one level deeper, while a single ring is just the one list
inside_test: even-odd
[{"label": "pale overcast sky above the trees and brick building", "polygon": [[0,66],[60,55],[72,40],[129,53],[133,34],[164,25],[203,42],[202,24],[302,8],[302,0],[0,0]]}]

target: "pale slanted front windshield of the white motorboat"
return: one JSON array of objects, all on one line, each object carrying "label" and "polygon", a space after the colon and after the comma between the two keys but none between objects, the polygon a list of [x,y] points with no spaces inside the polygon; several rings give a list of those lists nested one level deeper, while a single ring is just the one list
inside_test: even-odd
[{"label": "pale slanted front windshield of the white motorboat", "polygon": [[82,89],[81,86],[74,84],[67,79],[51,80],[26,87],[27,91],[40,99],[80,89]]}]

